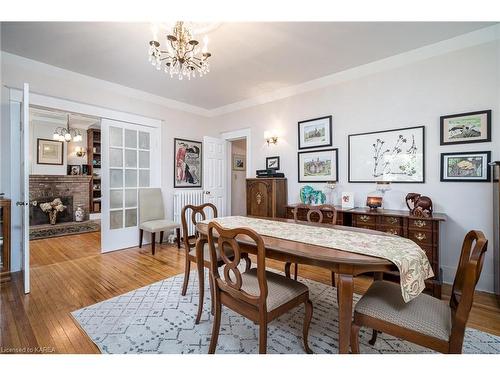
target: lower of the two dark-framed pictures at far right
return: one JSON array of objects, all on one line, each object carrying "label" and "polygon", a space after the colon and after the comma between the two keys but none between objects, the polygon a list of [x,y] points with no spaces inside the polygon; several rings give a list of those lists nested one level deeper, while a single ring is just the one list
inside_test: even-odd
[{"label": "lower of the two dark-framed pictures at far right", "polygon": [[451,152],[441,154],[441,181],[491,181],[491,151]]}]

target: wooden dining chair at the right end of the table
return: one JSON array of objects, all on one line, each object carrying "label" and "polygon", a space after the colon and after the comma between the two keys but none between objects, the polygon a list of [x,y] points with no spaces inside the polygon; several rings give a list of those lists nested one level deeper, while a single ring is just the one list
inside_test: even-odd
[{"label": "wooden dining chair at the right end of the table", "polygon": [[364,326],[373,329],[371,345],[381,331],[441,353],[461,353],[487,246],[480,231],[465,236],[449,304],[427,294],[405,303],[399,284],[375,281],[354,309],[352,352],[359,353],[359,329]]}]

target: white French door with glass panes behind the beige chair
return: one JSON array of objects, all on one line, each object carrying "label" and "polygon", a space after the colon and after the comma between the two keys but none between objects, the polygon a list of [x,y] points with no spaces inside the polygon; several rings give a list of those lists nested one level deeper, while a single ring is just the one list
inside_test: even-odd
[{"label": "white French door with glass panes behind the beige chair", "polygon": [[101,251],[138,246],[138,189],[160,187],[160,128],[101,121]]}]

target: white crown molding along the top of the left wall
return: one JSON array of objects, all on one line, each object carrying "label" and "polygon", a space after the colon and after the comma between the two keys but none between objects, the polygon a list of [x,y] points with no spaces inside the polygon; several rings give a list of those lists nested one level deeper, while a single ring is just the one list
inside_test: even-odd
[{"label": "white crown molding along the top of the left wall", "polygon": [[94,78],[85,74],[76,73],[71,70],[62,69],[54,65],[28,59],[23,56],[14,55],[9,52],[1,51],[1,54],[2,54],[3,65],[16,65],[16,66],[21,66],[25,69],[29,69],[34,72],[41,72],[44,74],[53,75],[55,77],[63,77],[68,80],[83,81],[86,85],[90,84],[94,86],[97,90],[102,89],[106,91],[112,91],[132,99],[158,104],[170,109],[188,112],[199,116],[205,116],[205,117],[208,116],[208,110],[205,108],[197,107],[173,99],[168,99],[163,96],[154,95],[146,91],[137,90],[128,86],[123,86],[99,78]]}]

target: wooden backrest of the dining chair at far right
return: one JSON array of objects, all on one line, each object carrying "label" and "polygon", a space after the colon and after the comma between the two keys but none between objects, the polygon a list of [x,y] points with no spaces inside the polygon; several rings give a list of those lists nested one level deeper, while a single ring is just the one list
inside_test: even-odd
[{"label": "wooden backrest of the dining chair at far right", "polygon": [[483,232],[471,230],[466,234],[451,290],[452,340],[460,336],[463,340],[465,324],[469,318],[474,290],[481,276],[487,247],[488,240]]}]

